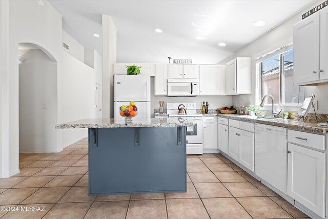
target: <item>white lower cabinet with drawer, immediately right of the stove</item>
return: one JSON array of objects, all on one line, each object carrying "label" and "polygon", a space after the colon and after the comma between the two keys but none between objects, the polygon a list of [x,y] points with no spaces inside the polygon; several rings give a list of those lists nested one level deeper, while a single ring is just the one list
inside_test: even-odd
[{"label": "white lower cabinet with drawer, immediately right of the stove", "polygon": [[203,117],[203,148],[217,149],[216,117]]}]

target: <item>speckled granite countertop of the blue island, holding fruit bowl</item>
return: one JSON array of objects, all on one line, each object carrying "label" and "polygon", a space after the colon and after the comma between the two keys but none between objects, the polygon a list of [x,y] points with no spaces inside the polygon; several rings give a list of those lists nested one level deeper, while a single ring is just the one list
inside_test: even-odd
[{"label": "speckled granite countertop of the blue island, holding fruit bowl", "polygon": [[181,127],[193,126],[194,122],[191,119],[182,121],[179,118],[149,118],[138,119],[133,118],[132,123],[125,123],[123,120],[114,120],[114,118],[88,118],[85,120],[78,120],[63,124],[57,124],[56,129],[69,129],[69,128],[129,128],[129,127]]}]

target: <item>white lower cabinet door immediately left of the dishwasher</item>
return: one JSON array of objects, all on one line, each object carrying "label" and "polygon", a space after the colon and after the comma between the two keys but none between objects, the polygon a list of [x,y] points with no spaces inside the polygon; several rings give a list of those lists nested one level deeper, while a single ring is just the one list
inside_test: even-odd
[{"label": "white lower cabinet door immediately left of the dishwasher", "polygon": [[254,172],[255,134],[239,130],[239,163]]}]

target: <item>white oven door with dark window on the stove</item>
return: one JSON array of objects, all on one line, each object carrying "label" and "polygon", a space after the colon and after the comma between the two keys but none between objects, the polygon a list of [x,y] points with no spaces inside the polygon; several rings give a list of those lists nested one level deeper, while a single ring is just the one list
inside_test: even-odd
[{"label": "white oven door with dark window on the stove", "polygon": [[187,127],[187,144],[203,143],[203,121],[202,117],[193,118],[195,125]]}]

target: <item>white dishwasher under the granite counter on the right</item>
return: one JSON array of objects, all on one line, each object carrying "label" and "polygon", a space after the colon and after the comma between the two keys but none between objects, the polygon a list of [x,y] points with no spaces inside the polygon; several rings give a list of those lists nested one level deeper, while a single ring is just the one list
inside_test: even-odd
[{"label": "white dishwasher under the granite counter on the right", "polygon": [[255,124],[255,173],[287,194],[287,129]]}]

